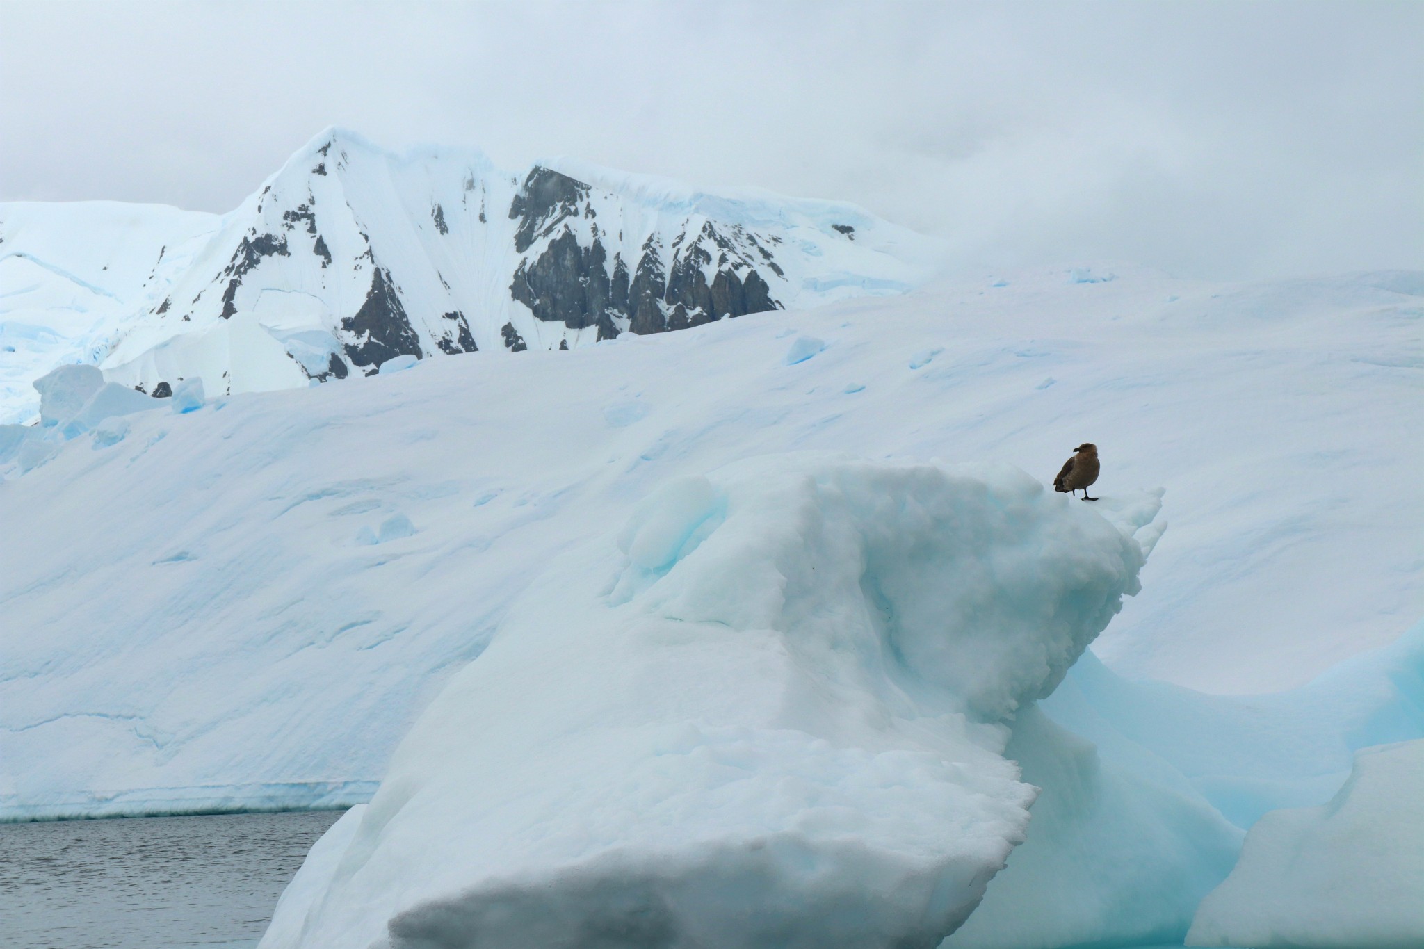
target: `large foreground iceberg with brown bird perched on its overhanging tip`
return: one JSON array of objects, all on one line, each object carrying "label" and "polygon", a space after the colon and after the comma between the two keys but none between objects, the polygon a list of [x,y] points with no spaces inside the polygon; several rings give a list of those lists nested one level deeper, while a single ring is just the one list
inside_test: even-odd
[{"label": "large foreground iceberg with brown bird perched on its overhanging tip", "polygon": [[934,946],[1028,822],[1001,723],[1143,562],[1011,468],[823,455],[674,481],[609,548],[447,684],[266,949]]}]

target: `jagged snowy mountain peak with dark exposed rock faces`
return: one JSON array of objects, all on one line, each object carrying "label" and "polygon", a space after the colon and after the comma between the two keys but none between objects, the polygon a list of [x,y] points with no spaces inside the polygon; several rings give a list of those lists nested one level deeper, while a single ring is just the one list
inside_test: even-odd
[{"label": "jagged snowy mountain peak with dark exposed rock faces", "polygon": [[103,369],[145,391],[189,376],[283,388],[402,354],[577,349],[900,293],[937,259],[930,239],[849,205],[564,162],[508,174],[329,131],[172,265]]}]

